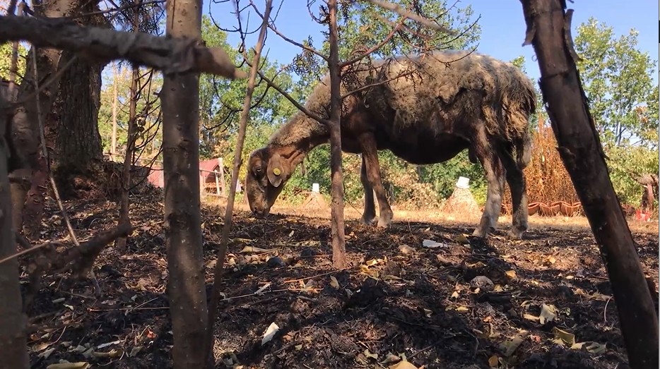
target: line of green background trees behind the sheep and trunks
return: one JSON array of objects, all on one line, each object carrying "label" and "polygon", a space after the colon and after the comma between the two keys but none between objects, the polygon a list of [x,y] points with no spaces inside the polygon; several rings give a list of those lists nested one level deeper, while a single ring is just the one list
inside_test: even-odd
[{"label": "line of green background trees behind the sheep and trunks", "polygon": [[[446,36],[439,36],[438,44],[449,42],[448,46],[453,49],[469,49],[478,44],[481,28],[470,6],[454,8],[454,11],[449,12],[447,4],[441,1],[424,1],[421,4],[423,13],[429,18],[437,19],[445,27],[458,31],[459,37],[452,37],[452,40],[446,40]],[[339,22],[343,40],[340,45],[342,59],[346,59],[351,52],[360,49],[362,45],[383,40],[390,32],[391,25],[387,18],[384,18],[385,11],[377,7],[370,8],[370,11],[383,18],[374,19],[371,13],[367,15],[367,12],[358,11],[356,8],[348,8],[341,12]],[[152,25],[152,28],[155,27]],[[202,35],[207,45],[222,46],[228,50],[237,64],[242,59],[237,47],[228,44],[227,32],[220,30],[206,15],[202,19]],[[312,44],[311,39],[306,42]],[[403,34],[396,35],[372,57],[412,52],[410,44],[411,42],[406,40]],[[5,44],[2,47],[0,75],[7,78],[11,45]],[[326,42],[320,45],[324,51],[327,47]],[[652,60],[647,52],[641,52],[637,48],[637,32],[634,29],[618,36],[613,28],[593,18],[577,28],[575,47],[582,57],[578,66],[587,96],[591,100],[592,114],[601,133],[601,141],[610,158],[608,165],[615,190],[623,202],[637,206],[640,204],[642,188],[635,181],[635,176],[657,173],[659,167],[659,90],[657,83],[652,80],[652,75],[656,73],[657,61]],[[19,49],[19,54],[19,75],[22,75],[25,71],[25,54],[27,54],[25,47]],[[512,60],[512,63],[524,71],[524,57],[519,56]],[[301,102],[305,101],[305,96],[309,95],[319,78],[326,73],[326,63],[319,61],[316,56],[305,53],[288,63],[269,60],[264,56],[261,66],[262,71],[269,78],[274,78],[283,90]],[[129,71],[130,66],[124,63],[107,66],[100,90],[98,132],[102,150],[104,153],[111,151],[112,126],[116,121],[118,155],[115,160],[117,161],[122,161],[126,148],[126,122],[131,85]],[[143,75],[147,75],[148,72],[142,71]],[[162,87],[163,79],[160,73],[155,72],[148,80],[143,78],[143,83],[148,83],[149,86],[147,92],[141,94],[137,107],[138,111],[143,111],[143,115],[142,119],[137,120],[136,147],[139,150],[136,155],[141,159],[155,159],[158,164],[161,160],[162,137],[160,106],[154,101],[158,100],[155,95]],[[246,80],[229,81],[211,75],[200,77],[201,159],[223,157],[227,173],[230,173],[245,83]],[[538,89],[536,82],[534,85]],[[257,102],[258,104],[249,113],[250,123],[244,144],[244,159],[247,159],[249,152],[265,145],[278,126],[296,111],[293,104],[278,92],[267,89],[265,82],[259,83],[254,96],[257,100],[255,104]],[[146,111],[145,107],[148,107]],[[550,124],[543,109],[540,92],[537,114],[530,123],[535,135],[539,132],[539,120],[542,126],[549,127]],[[549,135],[548,140],[554,143],[552,135]],[[538,158],[541,158],[541,162],[545,162],[546,159],[550,159],[550,154]],[[471,179],[471,190],[478,203],[483,204],[485,201],[486,184],[483,169],[481,165],[469,162],[466,152],[461,152],[448,162],[428,166],[408,164],[387,151],[379,152],[379,159],[382,163],[385,187],[393,197],[390,200],[400,207],[436,207],[442,199],[451,195],[459,176],[467,176]],[[546,178],[528,178],[528,181],[544,181],[556,172],[565,173],[558,159],[555,163],[546,164],[551,167],[543,171],[543,177]],[[533,162],[531,165],[540,164]],[[555,165],[556,167],[553,167]],[[305,159],[305,167],[307,169],[305,176],[302,175],[302,171],[295,171],[288,186],[283,190],[280,201],[289,202],[291,205],[299,203],[306,197],[304,191],[310,190],[312,183],[319,183],[322,193],[329,193],[329,145],[322,145],[313,150]],[[360,199],[363,196],[360,184],[360,157],[345,154],[343,168],[348,206],[359,208],[362,206]],[[245,167],[242,167],[240,181],[244,181],[244,171]],[[572,186],[570,187],[571,192],[574,193]],[[531,186],[532,188],[534,186]],[[239,200],[241,196],[239,195]],[[529,196],[531,201],[546,200],[543,198],[543,193],[534,193],[533,190]],[[569,197],[574,198],[574,195]]]}]

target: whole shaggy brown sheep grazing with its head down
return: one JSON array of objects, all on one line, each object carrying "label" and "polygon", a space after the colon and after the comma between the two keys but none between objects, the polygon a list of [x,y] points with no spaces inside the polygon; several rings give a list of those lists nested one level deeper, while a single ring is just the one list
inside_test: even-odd
[{"label": "whole shaggy brown sheep grazing with its head down", "polygon": [[[378,226],[388,226],[392,219],[377,150],[390,150],[411,164],[423,165],[447,161],[468,149],[471,162],[481,162],[488,180],[483,215],[473,234],[486,236],[496,228],[505,180],[514,212],[509,236],[524,234],[528,212],[522,170],[531,157],[528,120],[536,109],[536,94],[519,68],[483,54],[442,51],[350,69],[351,74],[343,76],[342,94],[361,91],[343,99],[341,149],[362,154],[363,223],[374,222],[374,191],[380,207]],[[329,117],[328,82],[326,75],[305,103],[323,119]],[[328,142],[326,126],[299,111],[266,147],[252,152],[246,193],[253,214],[266,217],[295,167],[310,150]]]}]

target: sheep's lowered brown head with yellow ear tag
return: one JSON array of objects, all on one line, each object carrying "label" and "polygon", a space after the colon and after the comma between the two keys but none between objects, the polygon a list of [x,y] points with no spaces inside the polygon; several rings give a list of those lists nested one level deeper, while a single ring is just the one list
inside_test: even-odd
[{"label": "sheep's lowered brown head with yellow ear tag", "polygon": [[250,154],[247,161],[245,194],[255,217],[268,216],[292,172],[289,162],[276,150],[263,147]]}]

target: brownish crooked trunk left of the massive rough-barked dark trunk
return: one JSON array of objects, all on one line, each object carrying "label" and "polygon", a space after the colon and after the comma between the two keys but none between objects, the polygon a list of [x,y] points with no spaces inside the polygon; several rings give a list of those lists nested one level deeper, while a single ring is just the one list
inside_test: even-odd
[{"label": "brownish crooked trunk left of the massive rough-barked dark trunk", "polygon": [[[71,7],[70,0],[52,0],[34,6],[33,11],[35,16],[60,18],[66,16]],[[23,106],[16,109],[11,122],[12,140],[17,147],[20,161],[24,164],[23,168],[13,171],[10,175],[13,226],[17,231],[21,231],[25,225],[25,235],[28,237],[34,236],[35,230],[40,228],[41,218],[24,217],[23,210],[25,206],[43,207],[43,196],[40,196],[40,193],[44,192],[47,179],[45,160],[39,147],[39,121],[45,121],[51,111],[61,79],[56,73],[61,51],[30,47],[25,76],[18,90],[18,101],[35,94],[35,54],[37,81],[40,85],[39,107],[37,99],[28,99]],[[47,77],[55,79],[49,85],[43,86]]]}]

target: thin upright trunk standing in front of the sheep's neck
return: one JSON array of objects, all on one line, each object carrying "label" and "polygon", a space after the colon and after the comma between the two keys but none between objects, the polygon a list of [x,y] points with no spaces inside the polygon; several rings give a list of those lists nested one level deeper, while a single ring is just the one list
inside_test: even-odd
[{"label": "thin upright trunk standing in front of the sheep's neck", "polygon": [[343,174],[341,171],[341,71],[337,30],[337,0],[328,1],[330,16],[330,173],[332,217],[332,264],[346,267],[346,236],[343,222]]}]

